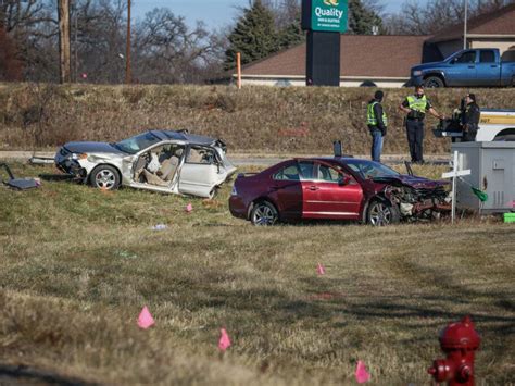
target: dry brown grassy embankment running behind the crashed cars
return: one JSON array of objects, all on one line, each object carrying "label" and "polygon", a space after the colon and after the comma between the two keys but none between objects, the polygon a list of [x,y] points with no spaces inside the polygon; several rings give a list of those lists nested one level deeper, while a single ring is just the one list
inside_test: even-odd
[{"label": "dry brown grassy embankment running behind the crashed cars", "polygon": [[[231,152],[328,153],[341,139],[346,152],[369,152],[366,104],[374,88],[226,86],[0,85],[0,150],[51,149],[71,140],[115,141],[150,128],[188,128],[224,139]],[[428,90],[447,115],[469,90]],[[474,90],[482,108],[515,108],[515,89]],[[407,152],[403,115],[412,89],[387,89],[390,127],[385,153]],[[450,142],[426,122],[426,153],[447,153]]]}]

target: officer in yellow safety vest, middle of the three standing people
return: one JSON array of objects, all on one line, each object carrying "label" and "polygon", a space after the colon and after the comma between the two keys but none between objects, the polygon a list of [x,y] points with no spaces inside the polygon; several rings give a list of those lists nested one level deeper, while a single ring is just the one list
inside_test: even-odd
[{"label": "officer in yellow safety vest, middle of the three standing people", "polygon": [[406,113],[406,135],[410,145],[410,154],[413,163],[424,163],[424,119],[426,112],[432,116],[443,120],[442,114],[437,113],[431,102],[424,95],[424,86],[415,87],[415,95],[409,96],[399,105],[399,110]]}]

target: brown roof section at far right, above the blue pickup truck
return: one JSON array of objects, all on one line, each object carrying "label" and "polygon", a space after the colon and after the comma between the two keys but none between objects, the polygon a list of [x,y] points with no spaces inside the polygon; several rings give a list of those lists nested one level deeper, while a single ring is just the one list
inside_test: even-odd
[{"label": "brown roof section at far right, above the blue pickup truck", "polygon": [[[467,34],[515,35],[515,4],[470,18],[467,22]],[[463,38],[463,23],[442,29],[428,41],[439,42],[461,38]]]}]

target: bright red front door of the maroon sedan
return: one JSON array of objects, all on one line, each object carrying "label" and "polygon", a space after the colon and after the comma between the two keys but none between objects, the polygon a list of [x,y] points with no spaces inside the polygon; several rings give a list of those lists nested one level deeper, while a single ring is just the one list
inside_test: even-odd
[{"label": "bright red front door of the maroon sedan", "polygon": [[305,219],[360,219],[363,189],[350,174],[330,163],[314,162],[311,179],[302,182]]}]

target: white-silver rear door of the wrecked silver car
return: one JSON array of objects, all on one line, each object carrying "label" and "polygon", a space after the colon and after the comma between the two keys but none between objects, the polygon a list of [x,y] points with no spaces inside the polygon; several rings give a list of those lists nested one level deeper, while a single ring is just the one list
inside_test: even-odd
[{"label": "white-silver rear door of the wrecked silver car", "polygon": [[189,146],[179,171],[178,190],[185,195],[211,197],[213,188],[225,179],[225,174],[213,148]]}]

